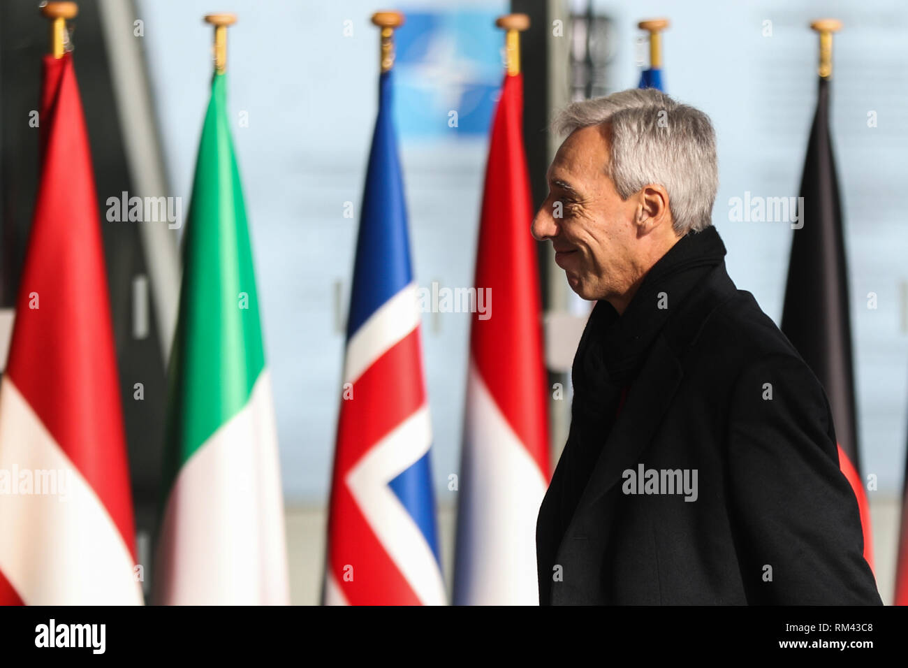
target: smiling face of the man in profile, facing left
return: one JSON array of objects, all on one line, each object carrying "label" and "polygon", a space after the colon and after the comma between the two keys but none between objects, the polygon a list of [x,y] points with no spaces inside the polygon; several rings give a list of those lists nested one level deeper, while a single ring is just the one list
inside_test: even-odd
[{"label": "smiling face of the man in profile, facing left", "polygon": [[639,274],[637,198],[617,194],[606,174],[609,151],[601,126],[571,133],[548,168],[548,197],[531,227],[538,241],[552,242],[571,289],[588,300],[625,294]]}]

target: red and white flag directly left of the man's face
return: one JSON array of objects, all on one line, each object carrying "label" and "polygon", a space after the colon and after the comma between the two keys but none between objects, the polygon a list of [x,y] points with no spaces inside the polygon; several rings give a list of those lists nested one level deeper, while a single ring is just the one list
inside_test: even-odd
[{"label": "red and white flag directly left of the man's face", "polygon": [[523,77],[507,75],[479,224],[455,604],[538,604],[536,520],[549,478],[548,394],[522,114]]}]

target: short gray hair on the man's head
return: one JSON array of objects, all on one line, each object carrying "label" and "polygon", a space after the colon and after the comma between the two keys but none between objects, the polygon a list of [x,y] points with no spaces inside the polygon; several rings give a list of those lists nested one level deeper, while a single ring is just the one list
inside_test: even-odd
[{"label": "short gray hair on the man's head", "polygon": [[655,88],[634,88],[572,103],[552,127],[564,136],[591,125],[610,130],[606,173],[621,199],[646,184],[659,184],[668,192],[677,234],[712,224],[719,177],[716,131],[709,116]]}]

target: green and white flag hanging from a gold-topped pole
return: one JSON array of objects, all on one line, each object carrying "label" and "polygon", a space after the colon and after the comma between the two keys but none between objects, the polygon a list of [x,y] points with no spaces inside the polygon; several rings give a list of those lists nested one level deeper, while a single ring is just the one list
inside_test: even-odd
[{"label": "green and white flag hanging from a gold-topped pole", "polygon": [[183,238],[154,600],[289,603],[281,474],[240,174],[215,74]]}]

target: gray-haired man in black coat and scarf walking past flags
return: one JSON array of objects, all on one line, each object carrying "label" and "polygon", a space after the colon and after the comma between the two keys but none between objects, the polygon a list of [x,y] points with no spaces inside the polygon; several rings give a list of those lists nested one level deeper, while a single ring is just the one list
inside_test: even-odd
[{"label": "gray-haired man in black coat and scarf walking past flags", "polygon": [[596,305],[539,509],[542,604],[880,604],[824,390],[725,272],[709,118],[569,105],[533,220]]}]

